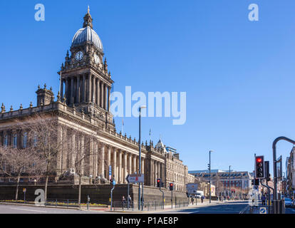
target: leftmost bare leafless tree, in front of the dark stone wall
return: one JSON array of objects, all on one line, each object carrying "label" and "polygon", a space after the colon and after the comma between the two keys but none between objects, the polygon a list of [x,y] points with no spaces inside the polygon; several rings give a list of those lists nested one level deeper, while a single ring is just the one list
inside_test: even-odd
[{"label": "leftmost bare leafless tree, in front of the dark stone wall", "polygon": [[16,200],[18,199],[21,176],[37,175],[39,164],[40,157],[34,150],[31,150],[31,147],[0,148],[0,171],[8,177],[16,178]]}]

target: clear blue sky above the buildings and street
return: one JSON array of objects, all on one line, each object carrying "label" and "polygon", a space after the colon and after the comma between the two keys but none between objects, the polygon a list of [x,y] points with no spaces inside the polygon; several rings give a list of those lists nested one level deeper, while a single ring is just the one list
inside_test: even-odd
[{"label": "clear blue sky above the buildings and street", "polygon": [[[35,4],[46,21],[35,21]],[[249,4],[259,21],[249,21]],[[36,105],[38,84],[58,91],[66,51],[90,5],[115,90],[187,92],[187,122],[143,118],[143,140],[175,147],[189,170],[252,171],[254,152],[295,139],[295,1],[0,1],[0,102]],[[116,118],[117,129],[121,120]],[[125,118],[138,138],[138,119]],[[279,142],[278,156],[292,145]],[[272,167],[271,167],[272,170]]]}]

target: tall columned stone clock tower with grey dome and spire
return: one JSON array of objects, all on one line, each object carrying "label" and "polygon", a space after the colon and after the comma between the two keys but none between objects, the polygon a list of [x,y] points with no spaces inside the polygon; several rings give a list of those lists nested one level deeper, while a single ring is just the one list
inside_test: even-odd
[{"label": "tall columned stone clock tower with grey dome and spire", "polygon": [[96,116],[113,125],[110,113],[110,90],[113,86],[106,58],[103,60],[103,43],[93,30],[89,6],[71,44],[71,55],[61,66],[61,100],[81,113]]}]

